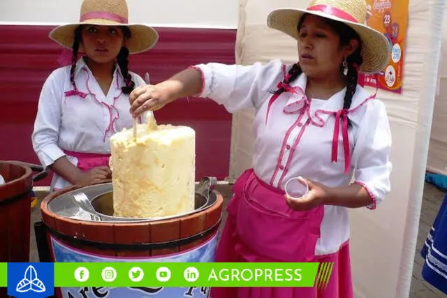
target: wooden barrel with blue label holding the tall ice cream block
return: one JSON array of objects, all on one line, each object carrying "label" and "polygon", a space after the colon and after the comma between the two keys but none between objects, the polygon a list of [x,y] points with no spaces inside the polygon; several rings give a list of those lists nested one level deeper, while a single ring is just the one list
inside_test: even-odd
[{"label": "wooden barrel with blue label holding the tall ice cream block", "polygon": [[[104,186],[97,184],[89,186],[89,189]],[[47,251],[49,260],[46,261],[213,262],[223,206],[223,198],[217,191],[209,192],[213,199],[207,207],[184,216],[151,221],[89,221],[54,211],[52,206],[56,204],[55,200],[65,201],[60,204],[63,206],[60,209],[62,212],[70,209],[70,204],[74,202],[73,194],[82,189],[80,186],[64,188],[43,200],[41,211],[45,232],[36,232],[36,237],[45,234],[47,246],[43,249],[41,244],[39,255]],[[41,258],[41,261],[45,261],[45,258]],[[80,290],[63,288],[56,292],[58,297],[65,298],[77,297],[75,293]],[[140,289],[142,292],[135,292],[135,289],[125,292],[122,288],[110,291],[114,290],[121,292],[114,295],[110,293],[110,297],[142,297],[147,294],[143,288]],[[165,288],[160,296],[152,293],[151,297],[184,297],[186,291],[187,288]],[[202,289],[194,297],[207,297],[207,294],[207,290]]]}]

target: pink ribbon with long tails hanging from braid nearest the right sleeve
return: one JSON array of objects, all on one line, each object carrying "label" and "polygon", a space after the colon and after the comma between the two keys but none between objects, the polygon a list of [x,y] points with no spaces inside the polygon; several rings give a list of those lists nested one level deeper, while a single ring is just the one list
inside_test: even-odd
[{"label": "pink ribbon with long tails hanging from braid nearest the right sleeve", "polygon": [[349,172],[351,165],[351,154],[349,152],[349,134],[348,134],[348,110],[342,109],[335,112],[335,128],[334,137],[332,138],[332,162],[337,163],[338,156],[338,135],[340,129],[340,121],[342,121],[342,137],[344,151],[344,172]]}]

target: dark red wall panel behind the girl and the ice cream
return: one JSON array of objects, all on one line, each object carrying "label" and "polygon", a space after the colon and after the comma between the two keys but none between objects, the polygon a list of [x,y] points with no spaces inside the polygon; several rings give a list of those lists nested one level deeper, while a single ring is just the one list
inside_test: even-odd
[{"label": "dark red wall panel behind the girl and the ice cream", "polygon": [[[0,26],[0,160],[38,163],[31,144],[43,82],[60,66],[64,50],[47,34],[50,26]],[[159,43],[131,55],[129,69],[148,72],[152,84],[193,64],[234,64],[235,30],[156,28]],[[182,98],[155,112],[159,124],[196,130],[196,177],[228,175],[231,114],[212,100]],[[51,177],[51,175],[50,175]],[[50,185],[50,177],[37,185]]]}]

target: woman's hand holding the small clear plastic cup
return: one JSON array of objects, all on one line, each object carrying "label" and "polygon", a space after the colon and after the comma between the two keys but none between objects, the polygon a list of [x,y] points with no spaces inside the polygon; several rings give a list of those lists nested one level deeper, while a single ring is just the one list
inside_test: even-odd
[{"label": "woman's hand holding the small clear plastic cup", "polygon": [[295,211],[307,211],[324,204],[325,198],[329,196],[329,188],[316,181],[304,179],[309,186],[309,191],[301,198],[295,199],[284,195],[288,207]]}]

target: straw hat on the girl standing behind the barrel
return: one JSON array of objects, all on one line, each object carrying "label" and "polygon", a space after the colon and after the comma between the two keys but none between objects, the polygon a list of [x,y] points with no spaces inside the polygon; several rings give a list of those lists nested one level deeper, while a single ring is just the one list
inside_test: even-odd
[{"label": "straw hat on the girl standing behind the barrel", "polygon": [[49,36],[59,45],[71,49],[75,39],[75,29],[82,24],[125,26],[131,31],[131,37],[126,40],[126,47],[130,54],[144,52],[154,47],[159,40],[159,33],[149,26],[129,24],[128,17],[126,0],[84,0],[79,22],[56,27]]}]

